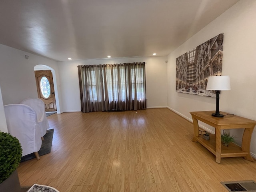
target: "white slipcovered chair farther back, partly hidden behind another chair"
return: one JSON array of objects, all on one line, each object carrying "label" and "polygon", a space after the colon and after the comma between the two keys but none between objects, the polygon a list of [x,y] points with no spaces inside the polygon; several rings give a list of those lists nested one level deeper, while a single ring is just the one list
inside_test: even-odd
[{"label": "white slipcovered chair farther back, partly hidden behind another chair", "polygon": [[28,105],[36,111],[37,121],[40,126],[41,137],[43,140],[46,130],[50,128],[44,109],[44,102],[38,98],[28,98],[20,102],[20,104]]}]

